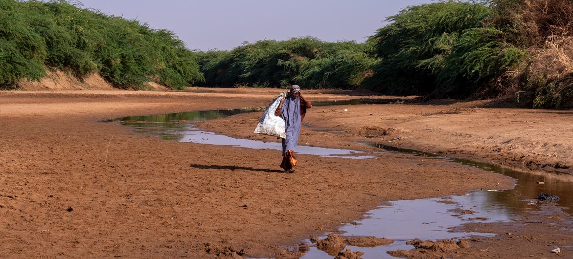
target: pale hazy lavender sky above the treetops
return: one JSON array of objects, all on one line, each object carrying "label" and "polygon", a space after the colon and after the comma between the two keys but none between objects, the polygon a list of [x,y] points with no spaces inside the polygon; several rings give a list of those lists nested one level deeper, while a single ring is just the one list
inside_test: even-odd
[{"label": "pale hazy lavender sky above the treetops", "polygon": [[387,16],[431,0],[80,0],[84,8],[174,31],[189,49],[311,35],[363,42]]}]

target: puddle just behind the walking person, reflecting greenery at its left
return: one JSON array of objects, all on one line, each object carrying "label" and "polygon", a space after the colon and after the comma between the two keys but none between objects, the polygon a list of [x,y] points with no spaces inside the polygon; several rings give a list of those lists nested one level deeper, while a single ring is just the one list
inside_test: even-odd
[{"label": "puddle just behind the walking person, reflecting greenery at its left", "polygon": [[[240,113],[249,113],[258,110],[261,109],[243,108],[230,110],[190,111],[185,113],[170,113],[162,115],[130,116],[112,119],[110,121],[117,121],[122,125],[131,126],[132,129],[138,133],[160,136],[164,140],[210,145],[240,146],[242,148],[252,149],[282,150],[282,145],[278,140],[277,142],[263,142],[242,138],[232,138],[221,134],[215,134],[213,132],[205,132],[193,126],[193,122],[216,119]],[[367,159],[375,157],[350,149],[319,148],[308,145],[297,146],[296,153],[351,159]]]}]

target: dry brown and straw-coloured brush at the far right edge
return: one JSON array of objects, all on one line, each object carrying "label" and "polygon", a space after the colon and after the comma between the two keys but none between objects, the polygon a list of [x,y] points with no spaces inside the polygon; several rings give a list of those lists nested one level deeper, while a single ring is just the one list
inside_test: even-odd
[{"label": "dry brown and straw-coloured brush at the far right edge", "polygon": [[566,105],[573,91],[573,1],[525,0],[513,22],[530,58],[509,71],[509,88],[529,91],[536,107]]}]

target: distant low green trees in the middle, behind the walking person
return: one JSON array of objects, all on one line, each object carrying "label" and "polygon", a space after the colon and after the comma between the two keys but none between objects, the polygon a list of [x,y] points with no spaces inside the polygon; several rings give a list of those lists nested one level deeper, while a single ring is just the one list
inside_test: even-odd
[{"label": "distant low green trees in the middle, behind the walking person", "polygon": [[205,86],[355,89],[371,75],[375,59],[366,45],[323,42],[312,37],[246,43],[231,51],[198,52]]}]

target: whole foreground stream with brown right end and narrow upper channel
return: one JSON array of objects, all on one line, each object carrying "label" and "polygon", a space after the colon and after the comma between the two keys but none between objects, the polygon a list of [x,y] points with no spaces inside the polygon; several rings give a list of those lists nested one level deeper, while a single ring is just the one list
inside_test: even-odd
[{"label": "whole foreground stream with brown right end and narrow upper channel", "polygon": [[[366,143],[365,143],[366,144]],[[519,172],[501,166],[448,158],[411,149],[400,149],[380,144],[366,144],[386,152],[407,153],[415,156],[446,159],[462,165],[473,166],[515,178],[516,185],[511,190],[473,190],[464,196],[448,196],[419,200],[401,200],[391,205],[380,206],[367,213],[368,218],[344,225],[339,232],[345,236],[375,236],[395,240],[393,244],[375,248],[347,246],[353,251],[364,252],[362,258],[394,258],[387,254],[391,250],[410,250],[413,246],[406,242],[419,238],[437,240],[444,238],[464,238],[470,236],[493,236],[488,233],[457,232],[457,226],[468,222],[501,222],[513,218],[523,218],[529,211],[541,210],[545,202],[537,203],[536,197],[541,192],[559,196],[556,205],[565,212],[573,208],[570,190],[573,176],[567,174],[533,174]],[[538,184],[537,182],[544,182]],[[472,214],[461,213],[470,210]],[[466,211],[467,212],[467,211]],[[356,225],[358,224],[358,225]],[[324,238],[324,237],[321,237]],[[308,252],[301,258],[332,258],[327,253],[313,247],[305,240],[304,247],[310,245]]]}]

